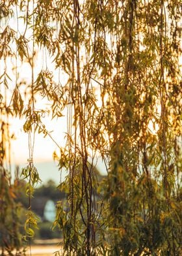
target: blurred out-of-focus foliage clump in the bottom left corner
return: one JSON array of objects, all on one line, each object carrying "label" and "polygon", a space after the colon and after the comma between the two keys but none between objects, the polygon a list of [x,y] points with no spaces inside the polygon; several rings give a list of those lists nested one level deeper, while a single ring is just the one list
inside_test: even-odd
[{"label": "blurred out-of-focus foliage clump in the bottom left corner", "polygon": [[[25,247],[22,242],[22,227],[25,221],[25,209],[21,207],[21,204],[16,202],[19,191],[18,180],[14,181],[14,184],[10,183],[10,177],[8,177],[7,170],[3,170],[1,167],[0,174],[0,246],[1,255],[5,252],[8,255],[14,255],[21,253],[25,255]],[[17,254],[18,255],[18,254]]]}]

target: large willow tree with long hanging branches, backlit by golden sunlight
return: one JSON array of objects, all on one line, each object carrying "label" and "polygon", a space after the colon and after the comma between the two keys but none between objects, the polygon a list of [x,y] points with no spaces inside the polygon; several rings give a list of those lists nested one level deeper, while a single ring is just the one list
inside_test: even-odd
[{"label": "large willow tree with long hanging branches, backlit by golden sunlight", "polygon": [[65,146],[54,153],[68,171],[54,223],[64,255],[179,255],[181,1],[3,0],[0,18],[1,85],[10,84],[2,109],[25,118],[29,133],[27,236],[34,133],[51,136],[44,114],[66,113]]}]

